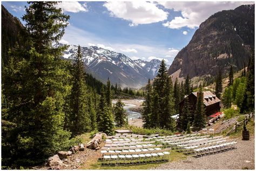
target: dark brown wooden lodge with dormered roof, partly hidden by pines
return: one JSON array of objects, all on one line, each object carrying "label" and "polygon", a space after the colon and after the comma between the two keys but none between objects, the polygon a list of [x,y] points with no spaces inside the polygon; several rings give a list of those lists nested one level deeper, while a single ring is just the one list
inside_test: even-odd
[{"label": "dark brown wooden lodge with dormered roof, partly hidden by pines", "polygon": [[[209,118],[210,115],[220,111],[220,99],[216,97],[210,91],[205,91],[204,93],[204,105],[205,105],[205,114]],[[192,116],[197,108],[197,94],[198,92],[192,92],[189,95],[185,95],[185,98],[188,98],[190,102],[190,111]],[[182,108],[184,105],[184,99],[179,103],[179,113],[182,114]],[[193,118],[192,118],[193,119]]]}]

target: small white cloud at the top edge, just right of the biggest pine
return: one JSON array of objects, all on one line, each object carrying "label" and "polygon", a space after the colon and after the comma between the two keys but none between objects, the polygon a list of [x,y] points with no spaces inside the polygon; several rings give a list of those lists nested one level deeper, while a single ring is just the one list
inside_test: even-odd
[{"label": "small white cloud at the top edge, just right of the biggest pine", "polygon": [[66,12],[86,12],[87,5],[84,3],[83,5],[76,1],[63,1],[56,5],[57,8],[62,8],[63,11]]}]

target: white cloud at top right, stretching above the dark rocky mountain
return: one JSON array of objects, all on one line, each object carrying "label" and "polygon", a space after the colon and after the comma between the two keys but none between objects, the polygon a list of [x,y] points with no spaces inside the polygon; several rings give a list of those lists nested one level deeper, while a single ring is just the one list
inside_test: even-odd
[{"label": "white cloud at top right, stretching above the dark rocky mountain", "polygon": [[180,29],[187,26],[190,29],[198,27],[215,12],[235,9],[242,4],[254,2],[160,2],[167,9],[180,11],[182,17],[174,17],[163,26],[171,29]]}]

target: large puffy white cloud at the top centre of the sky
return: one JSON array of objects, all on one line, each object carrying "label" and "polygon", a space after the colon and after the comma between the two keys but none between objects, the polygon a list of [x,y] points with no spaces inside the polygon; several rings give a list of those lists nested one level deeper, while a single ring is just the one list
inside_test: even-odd
[{"label": "large puffy white cloud at the top centre of the sky", "polygon": [[110,1],[103,6],[110,11],[110,16],[131,21],[130,26],[161,22],[168,16],[168,12],[159,9],[156,3],[146,1]]}]

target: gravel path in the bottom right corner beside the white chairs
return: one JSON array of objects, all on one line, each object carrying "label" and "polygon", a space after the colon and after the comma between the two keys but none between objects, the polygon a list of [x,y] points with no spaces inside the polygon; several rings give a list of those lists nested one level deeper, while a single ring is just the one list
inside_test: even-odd
[{"label": "gravel path in the bottom right corner beside the white chairs", "polygon": [[254,135],[250,141],[238,140],[237,147],[232,151],[201,158],[188,156],[185,160],[165,163],[154,169],[255,169]]}]

